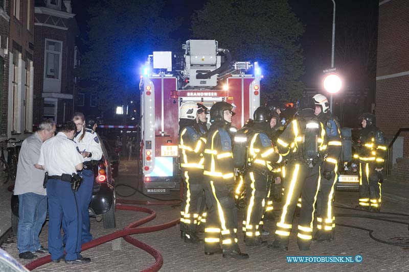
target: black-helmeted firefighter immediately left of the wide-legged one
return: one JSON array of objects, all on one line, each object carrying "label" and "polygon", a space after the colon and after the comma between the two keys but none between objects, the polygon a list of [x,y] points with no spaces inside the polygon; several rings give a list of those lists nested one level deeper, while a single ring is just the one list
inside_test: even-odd
[{"label": "black-helmeted firefighter immediately left of the wide-legged one", "polygon": [[[270,132],[270,111],[266,107],[259,107],[254,112],[254,125],[249,136],[248,160],[249,169],[246,171],[244,182],[246,187],[247,207],[244,215],[245,243],[247,246],[261,245],[260,223],[263,225],[265,200],[268,192],[270,163],[280,163],[282,156],[275,152]],[[243,227],[244,229],[244,227]]]}]

